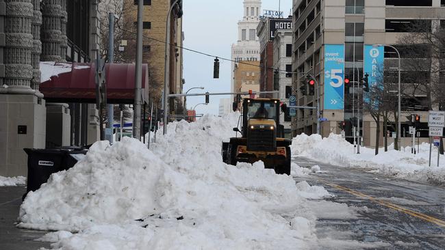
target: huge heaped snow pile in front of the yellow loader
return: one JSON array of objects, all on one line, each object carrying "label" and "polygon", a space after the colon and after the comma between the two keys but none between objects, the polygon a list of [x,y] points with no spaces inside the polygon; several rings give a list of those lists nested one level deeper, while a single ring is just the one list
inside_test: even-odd
[{"label": "huge heaped snow pile in front of the yellow loader", "polygon": [[45,236],[63,249],[312,249],[317,205],[307,198],[329,193],[262,162],[223,163],[238,117],[173,122],[151,150],[128,137],[94,143],[27,195],[19,226],[69,231]]}]

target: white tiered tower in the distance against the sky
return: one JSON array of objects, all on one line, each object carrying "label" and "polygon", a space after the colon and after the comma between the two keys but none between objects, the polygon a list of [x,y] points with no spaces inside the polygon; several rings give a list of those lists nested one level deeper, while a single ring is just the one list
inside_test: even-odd
[{"label": "white tiered tower in the distance against the sky", "polygon": [[[244,16],[238,22],[238,41],[231,46],[233,61],[259,61],[259,40],[256,29],[260,12],[261,0],[243,1]],[[236,85],[240,85],[235,79],[236,62],[231,64],[231,92],[236,92]]]}]

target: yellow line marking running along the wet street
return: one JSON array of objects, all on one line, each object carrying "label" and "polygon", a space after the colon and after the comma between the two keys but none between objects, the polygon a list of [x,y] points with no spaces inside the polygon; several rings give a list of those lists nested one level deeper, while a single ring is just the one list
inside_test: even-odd
[{"label": "yellow line marking running along the wet street", "polygon": [[403,208],[402,206],[398,206],[398,205],[392,204],[390,202],[385,202],[383,200],[374,198],[374,197],[372,197],[370,195],[366,195],[364,193],[360,193],[358,191],[354,191],[352,189],[348,189],[348,188],[346,188],[344,186],[340,186],[338,184],[333,184],[331,182],[327,182],[326,180],[320,180],[320,182],[324,182],[328,186],[332,186],[334,189],[338,189],[340,191],[344,191],[346,193],[350,193],[350,194],[358,196],[358,197],[363,197],[363,198],[369,199],[370,201],[375,202],[377,204],[381,204],[382,206],[385,206],[387,208],[391,208],[391,209],[397,210],[398,212],[403,212],[405,214],[409,214],[412,217],[416,217],[418,219],[422,219],[424,221],[428,221],[428,222],[434,223],[434,224],[439,225],[441,227],[445,227],[445,221],[442,221],[442,220],[437,219],[435,217],[431,217],[431,216],[429,216],[427,214],[422,214],[421,212],[416,212],[414,210],[411,210],[411,209],[408,209],[408,208]]}]

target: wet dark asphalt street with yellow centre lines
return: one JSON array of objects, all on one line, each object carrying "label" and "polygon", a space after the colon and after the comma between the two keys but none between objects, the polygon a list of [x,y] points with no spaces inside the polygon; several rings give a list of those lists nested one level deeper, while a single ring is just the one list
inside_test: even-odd
[{"label": "wet dark asphalt street with yellow centre lines", "polygon": [[307,158],[297,157],[293,161],[301,167],[319,165],[322,171],[298,177],[297,181],[324,186],[335,195],[328,198],[333,202],[366,207],[357,210],[359,216],[355,219],[318,219],[320,238],[335,232],[345,240],[386,242],[391,246],[374,249],[445,249],[444,187],[316,163]]}]

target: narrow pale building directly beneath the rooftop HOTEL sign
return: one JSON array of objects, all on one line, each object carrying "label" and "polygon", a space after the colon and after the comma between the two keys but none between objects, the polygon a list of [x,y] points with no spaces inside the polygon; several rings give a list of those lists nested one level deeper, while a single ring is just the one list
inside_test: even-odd
[{"label": "narrow pale building directly beneath the rooftop HOTEL sign", "polygon": [[[273,40],[274,90],[279,91],[277,97],[281,102],[289,104],[292,92],[292,29],[278,29]],[[281,124],[285,135],[291,134],[291,117],[281,113]]]}]

